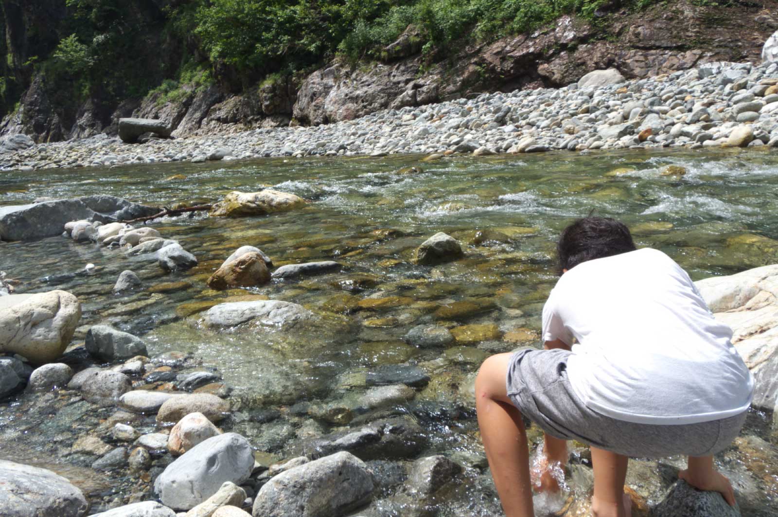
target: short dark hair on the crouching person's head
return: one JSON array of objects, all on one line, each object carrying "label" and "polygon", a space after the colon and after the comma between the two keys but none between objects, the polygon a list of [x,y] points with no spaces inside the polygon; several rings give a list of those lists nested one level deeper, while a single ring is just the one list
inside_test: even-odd
[{"label": "short dark hair on the crouching person's head", "polygon": [[559,273],[587,260],[612,257],[635,249],[632,234],[624,223],[610,217],[584,217],[562,230],[556,245]]}]

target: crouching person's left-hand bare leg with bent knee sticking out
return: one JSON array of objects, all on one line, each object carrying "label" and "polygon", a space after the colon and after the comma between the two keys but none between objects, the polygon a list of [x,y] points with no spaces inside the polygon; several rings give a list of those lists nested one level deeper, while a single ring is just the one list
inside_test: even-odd
[{"label": "crouching person's left-hand bare leg with bent knee sticking out", "polygon": [[499,353],[482,364],[475,379],[475,410],[506,517],[533,517],[527,434],[505,386],[511,355]]}]

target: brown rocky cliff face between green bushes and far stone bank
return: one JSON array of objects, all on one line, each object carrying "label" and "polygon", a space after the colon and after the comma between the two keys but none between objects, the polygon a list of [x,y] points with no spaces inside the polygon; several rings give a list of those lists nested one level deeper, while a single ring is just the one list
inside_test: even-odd
[{"label": "brown rocky cliff face between green bushes and far stone bank", "polygon": [[[605,23],[604,23],[605,25]],[[687,0],[596,26],[563,16],[534,33],[491,44],[463,44],[447,58],[420,54],[411,26],[387,46],[384,62],[335,60],[307,77],[266,81],[236,95],[221,86],[192,87],[174,101],[161,93],[107,103],[90,98],[63,111],[45,77],[35,77],[0,135],[23,132],[37,141],[115,134],[118,118],[162,118],[174,136],[236,132],[291,123],[320,125],[385,108],[419,106],[486,91],[564,86],[593,69],[616,68],[628,78],[689,69],[703,62],[759,62],[778,29],[778,2],[701,7]]]}]

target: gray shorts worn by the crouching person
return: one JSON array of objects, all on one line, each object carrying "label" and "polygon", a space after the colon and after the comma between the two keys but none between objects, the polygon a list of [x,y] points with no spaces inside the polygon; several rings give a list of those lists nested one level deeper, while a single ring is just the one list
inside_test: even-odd
[{"label": "gray shorts worn by the crouching person", "polygon": [[520,350],[506,375],[508,396],[543,431],[636,458],[717,454],[738,436],[746,413],[699,424],[635,424],[606,417],[578,399],[567,378],[568,350]]}]

